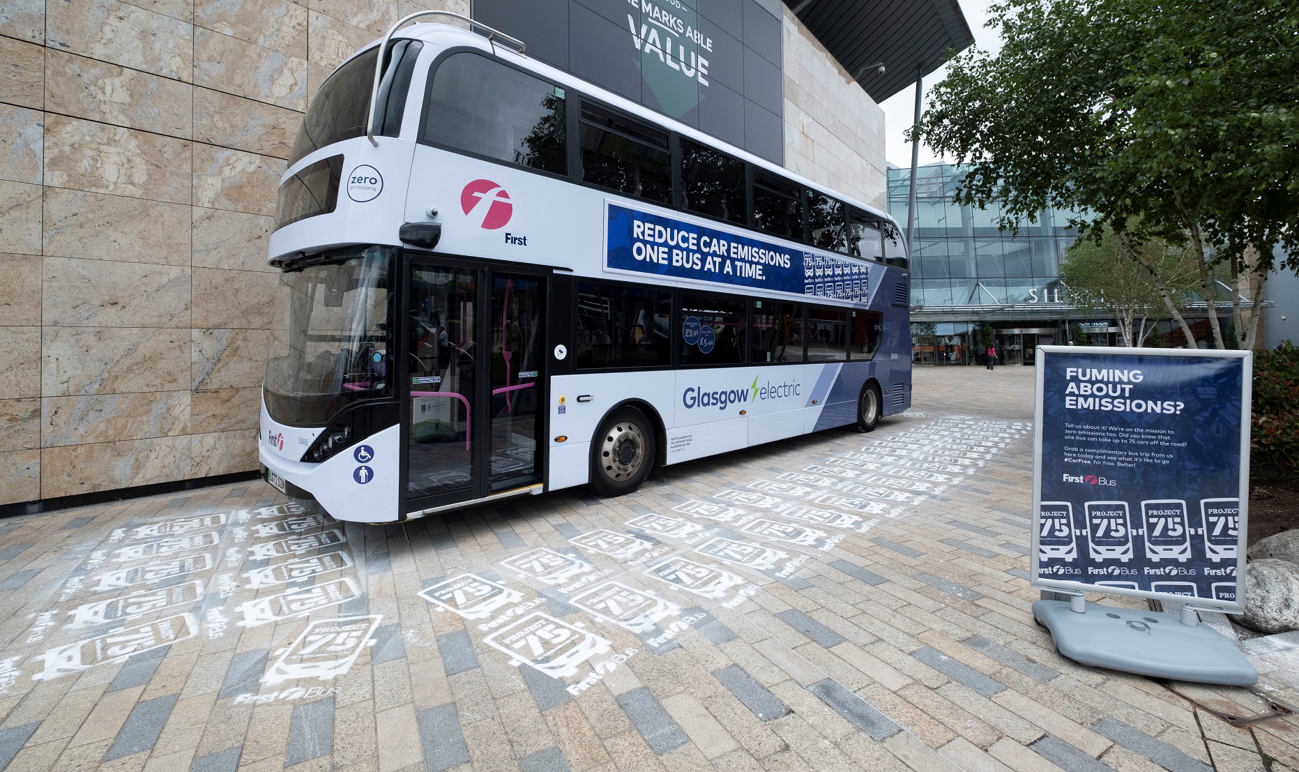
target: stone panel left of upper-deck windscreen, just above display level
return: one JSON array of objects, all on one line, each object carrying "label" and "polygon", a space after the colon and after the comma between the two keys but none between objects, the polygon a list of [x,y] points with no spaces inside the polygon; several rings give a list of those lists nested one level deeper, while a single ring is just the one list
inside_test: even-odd
[{"label": "stone panel left of upper-deck windscreen, just above display level", "polygon": [[262,156],[287,159],[303,114],[209,88],[194,94],[194,138]]}]

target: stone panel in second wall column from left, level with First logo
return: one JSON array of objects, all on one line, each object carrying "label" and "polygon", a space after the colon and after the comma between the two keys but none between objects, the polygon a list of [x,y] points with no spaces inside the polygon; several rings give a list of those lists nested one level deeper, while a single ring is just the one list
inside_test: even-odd
[{"label": "stone panel in second wall column from left, level with First logo", "polygon": [[45,191],[45,255],[190,264],[190,207],[125,196]]}]

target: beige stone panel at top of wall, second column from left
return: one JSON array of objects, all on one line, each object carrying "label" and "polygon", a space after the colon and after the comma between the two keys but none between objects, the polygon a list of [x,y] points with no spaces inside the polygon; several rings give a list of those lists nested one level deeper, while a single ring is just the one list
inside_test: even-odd
[{"label": "beige stone panel at top of wall, second column from left", "polygon": [[49,47],[190,82],[194,26],[116,0],[51,0]]}]

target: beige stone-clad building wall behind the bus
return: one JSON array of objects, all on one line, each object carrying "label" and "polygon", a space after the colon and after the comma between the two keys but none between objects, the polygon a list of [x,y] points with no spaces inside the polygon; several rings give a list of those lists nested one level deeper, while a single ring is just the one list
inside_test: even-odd
[{"label": "beige stone-clad building wall behind the bus", "polygon": [[[469,0],[0,4],[0,504],[256,469],[284,159],[422,8]],[[879,108],[788,12],[785,57],[788,166],[882,203]]]}]

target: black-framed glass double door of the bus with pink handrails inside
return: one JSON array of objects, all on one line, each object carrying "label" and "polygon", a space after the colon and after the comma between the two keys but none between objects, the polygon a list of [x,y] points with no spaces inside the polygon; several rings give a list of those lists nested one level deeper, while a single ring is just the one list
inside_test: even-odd
[{"label": "black-framed glass double door of the bus with pink handrails inside", "polygon": [[544,285],[408,261],[405,512],[540,482]]}]

